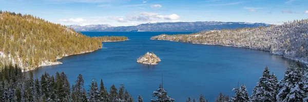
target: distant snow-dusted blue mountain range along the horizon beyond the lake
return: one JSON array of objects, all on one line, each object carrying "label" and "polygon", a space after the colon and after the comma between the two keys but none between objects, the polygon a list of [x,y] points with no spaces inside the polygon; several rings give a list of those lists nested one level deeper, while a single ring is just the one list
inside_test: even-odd
[{"label": "distant snow-dusted blue mountain range along the horizon beyond the lake", "polygon": [[236,29],[236,28],[252,28],[267,27],[269,24],[264,23],[245,23],[245,22],[177,22],[177,23],[147,23],[138,26],[119,26],[110,25],[71,25],[76,31],[106,31],[106,32],[163,32],[163,31],[179,31],[179,32],[200,32],[214,29]]}]

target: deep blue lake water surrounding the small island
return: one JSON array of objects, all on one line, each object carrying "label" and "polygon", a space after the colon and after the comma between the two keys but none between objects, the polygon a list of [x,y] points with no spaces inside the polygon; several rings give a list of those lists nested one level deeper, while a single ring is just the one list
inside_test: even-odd
[{"label": "deep blue lake water surrounding the small island", "polygon": [[[50,74],[65,72],[71,85],[82,74],[85,87],[94,77],[103,79],[108,91],[112,84],[123,83],[134,99],[141,94],[145,101],[161,83],[171,98],[185,101],[188,96],[199,98],[203,94],[214,101],[220,92],[232,96],[233,87],[245,84],[249,95],[262,75],[265,66],[282,79],[286,67],[292,62],[268,52],[244,48],[195,45],[163,40],[150,40],[151,36],[190,32],[83,32],[88,36],[127,36],[125,42],[103,43],[103,49],[59,59],[61,65],[34,70],[34,76],[46,71]],[[161,58],[158,65],[136,63],[146,52]]]}]

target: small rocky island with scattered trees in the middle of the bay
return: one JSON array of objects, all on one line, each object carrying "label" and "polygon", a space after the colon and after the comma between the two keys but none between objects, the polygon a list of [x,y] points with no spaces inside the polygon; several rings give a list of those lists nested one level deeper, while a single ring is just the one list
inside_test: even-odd
[{"label": "small rocky island with scattered trees in the middle of the bay", "polygon": [[149,65],[157,65],[157,63],[160,61],[161,61],[160,58],[153,52],[152,53],[147,52],[143,56],[140,56],[137,59],[137,63],[149,64]]}]

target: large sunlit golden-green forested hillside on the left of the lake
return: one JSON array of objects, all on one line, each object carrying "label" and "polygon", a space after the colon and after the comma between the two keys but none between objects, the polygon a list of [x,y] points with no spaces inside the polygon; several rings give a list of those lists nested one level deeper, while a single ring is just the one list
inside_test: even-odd
[{"label": "large sunlit golden-green forested hillside on the left of the lake", "polygon": [[0,66],[17,64],[25,70],[59,64],[63,56],[102,48],[96,38],[33,15],[0,11]]}]

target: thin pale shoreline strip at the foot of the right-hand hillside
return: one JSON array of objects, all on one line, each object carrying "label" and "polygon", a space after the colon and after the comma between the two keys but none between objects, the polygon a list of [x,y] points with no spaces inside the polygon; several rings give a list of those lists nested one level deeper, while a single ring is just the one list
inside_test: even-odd
[{"label": "thin pale shoreline strip at the foot of the right-hand hillside", "polygon": [[[150,39],[151,39],[151,40],[164,40],[164,39],[153,39],[153,38],[150,38]],[[180,41],[176,41],[176,40],[165,40],[165,41],[169,41],[169,42],[180,42]],[[187,42],[180,42],[180,43],[187,43]],[[199,43],[187,43],[187,44],[199,44]],[[240,47],[240,46],[215,45],[215,44],[199,44],[199,45],[214,45],[214,46],[223,46],[223,47],[244,48],[244,49],[260,50],[260,51],[265,51],[265,52],[271,53],[271,52],[269,52],[269,51],[267,51],[267,50],[254,49],[254,48],[247,48],[247,47]],[[286,59],[296,60],[296,61],[299,61],[299,62],[301,62],[301,63],[308,64],[308,62],[305,62],[305,61],[300,60],[300,59],[285,57],[285,56],[283,56],[283,55],[281,55],[281,54],[276,54],[276,53],[271,53],[271,54],[280,55],[280,56],[282,56],[283,58],[286,58]]]}]

